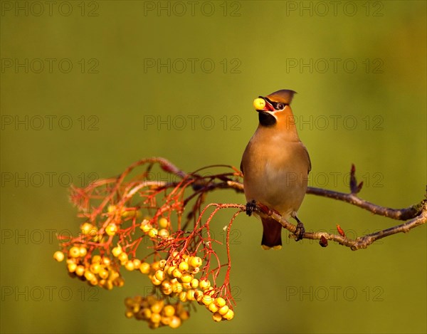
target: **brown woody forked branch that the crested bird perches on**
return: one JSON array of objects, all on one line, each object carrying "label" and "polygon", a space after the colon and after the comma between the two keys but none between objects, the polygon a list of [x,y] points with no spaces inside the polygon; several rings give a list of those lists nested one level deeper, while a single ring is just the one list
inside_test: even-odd
[{"label": "brown woody forked branch that the crested bird perches on", "polygon": [[[172,164],[172,162],[169,162],[169,160],[166,160],[162,157],[153,157],[149,159],[140,160],[139,162],[135,162],[130,167],[128,167],[125,172],[123,172],[116,181],[114,189],[112,192],[110,192],[109,196],[107,196],[99,208],[95,209],[95,214],[98,214],[100,210],[102,210],[102,207],[105,207],[105,204],[112,198],[113,194],[119,189],[120,184],[125,179],[125,177],[132,172],[132,169],[135,169],[135,167],[142,166],[144,164],[148,164],[147,172],[149,172],[152,169],[152,166],[154,164],[159,164],[159,167],[161,167],[164,172],[167,172],[169,174],[172,174],[176,176],[178,179],[181,179],[181,182],[165,182],[165,181],[159,181],[159,180],[139,180],[137,184],[135,184],[135,188],[133,188],[130,192],[127,193],[127,196],[125,197],[124,202],[126,202],[127,199],[132,197],[134,194],[139,192],[144,187],[152,187],[152,189],[157,189],[157,191],[166,190],[166,189],[174,189],[176,191],[179,188],[185,188],[188,185],[191,184],[191,187],[193,189],[193,193],[189,195],[189,197],[186,197],[184,199],[183,205],[184,207],[186,204],[193,199],[194,197],[200,197],[200,200],[196,203],[196,207],[192,210],[194,218],[196,217],[194,213],[196,212],[197,208],[201,208],[202,202],[204,202],[202,195],[206,194],[207,192],[212,192],[216,189],[234,189],[236,192],[243,192],[243,183],[241,182],[241,179],[243,175],[241,172],[236,169],[235,167],[229,166],[229,165],[218,165],[218,166],[209,166],[204,167],[202,169],[196,170],[196,172],[192,173],[186,173],[176,167]],[[232,172],[225,172],[221,174],[209,174],[209,176],[202,176],[201,174],[198,174],[204,169],[208,169],[211,167],[226,167],[228,169],[231,169]],[[373,234],[367,234],[366,236],[361,236],[357,239],[348,239],[344,231],[337,226],[338,234],[328,234],[326,232],[307,232],[305,233],[304,239],[313,239],[313,240],[320,240],[320,244],[322,246],[327,246],[327,241],[332,240],[336,241],[338,244],[342,244],[343,246],[348,246],[352,250],[367,248],[370,244],[374,243],[374,241],[378,239],[382,239],[386,236],[390,236],[392,234],[401,233],[401,232],[408,232],[409,230],[413,229],[416,226],[422,225],[426,223],[427,220],[427,213],[426,213],[426,207],[427,207],[427,199],[423,199],[418,204],[414,204],[411,207],[406,207],[403,209],[392,209],[389,207],[381,207],[377,204],[368,202],[364,199],[361,199],[357,196],[357,194],[361,191],[363,182],[357,183],[356,179],[356,168],[354,165],[352,165],[351,172],[350,172],[350,180],[349,180],[349,193],[344,192],[336,192],[334,190],[330,189],[321,189],[317,187],[308,187],[307,188],[307,194],[315,194],[320,197],[327,197],[330,199],[337,199],[342,202],[347,202],[349,204],[352,204],[356,207],[360,207],[362,209],[366,209],[367,211],[378,214],[380,216],[385,216],[391,219],[396,220],[408,220],[404,224],[400,224],[397,226],[390,227],[389,229],[384,229],[382,231],[373,233]],[[99,185],[102,184],[102,182],[112,182],[114,179],[107,179],[107,180],[100,180],[99,182],[94,182],[91,187],[96,188],[97,183]],[[92,188],[92,189],[93,189]],[[87,202],[85,202],[87,204]],[[233,204],[236,208],[239,209],[239,212],[246,211],[246,206],[241,204]],[[285,229],[290,231],[292,234],[295,233],[296,226],[293,224],[290,224],[289,221],[286,221],[278,212],[275,212],[274,210],[270,210],[268,207],[265,207],[262,203],[257,203],[255,211],[258,212],[261,215],[268,215],[271,216],[276,221],[280,222],[280,224],[283,225]]]}]

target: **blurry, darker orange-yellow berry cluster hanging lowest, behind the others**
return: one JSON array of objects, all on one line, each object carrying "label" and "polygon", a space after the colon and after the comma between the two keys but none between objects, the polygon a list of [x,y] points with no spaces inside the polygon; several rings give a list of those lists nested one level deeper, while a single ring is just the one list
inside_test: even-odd
[{"label": "blurry, darker orange-yellow berry cluster hanging lowest, behind the others", "polygon": [[162,326],[178,328],[182,321],[190,317],[189,311],[181,303],[165,303],[163,299],[154,295],[146,298],[142,296],[126,298],[125,306],[127,318],[145,320],[152,329]]}]

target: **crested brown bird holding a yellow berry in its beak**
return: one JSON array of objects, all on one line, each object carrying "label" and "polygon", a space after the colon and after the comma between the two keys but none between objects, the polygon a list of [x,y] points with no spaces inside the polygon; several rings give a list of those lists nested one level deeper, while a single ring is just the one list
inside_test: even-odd
[{"label": "crested brown bird holding a yellow berry in its beak", "polygon": [[[297,217],[311,170],[310,155],[295,126],[290,103],[294,90],[278,90],[253,101],[259,124],[241,160],[247,213],[255,202],[297,221],[295,241],[303,238],[304,225]],[[268,216],[263,223],[263,249],[282,248],[282,225]]]}]

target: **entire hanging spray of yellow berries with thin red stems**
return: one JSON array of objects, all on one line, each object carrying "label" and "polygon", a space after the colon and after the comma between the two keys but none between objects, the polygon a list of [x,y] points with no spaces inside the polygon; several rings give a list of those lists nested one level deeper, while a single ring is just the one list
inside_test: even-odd
[{"label": "entire hanging spray of yellow berries with thin red stems", "polygon": [[[125,315],[147,321],[150,328],[178,328],[189,318],[193,302],[205,306],[215,321],[231,320],[234,312],[229,283],[229,234],[228,263],[223,263],[212,246],[221,242],[212,237],[209,224],[219,209],[233,205],[209,204],[201,209],[201,191],[193,214],[183,223],[184,207],[194,197],[186,195],[185,190],[203,189],[201,184],[205,181],[199,179],[198,186],[192,187],[194,177],[162,165],[164,171],[183,177],[181,182],[170,184],[172,189],[167,188],[169,184],[147,181],[145,174],[125,182],[132,168],[147,161],[135,163],[118,178],[99,180],[83,189],[73,188],[72,201],[85,222],[80,225],[78,236],[58,236],[61,251],[56,251],[54,259],[66,259],[70,276],[108,290],[125,284],[122,268],[146,275],[152,292],[149,296],[126,298]],[[157,158],[149,162],[164,164]],[[214,212],[203,221],[204,213],[211,208]],[[237,214],[228,224],[228,231]],[[194,226],[189,226],[191,222]],[[211,258],[217,263],[215,268]],[[223,268],[223,283],[217,285]]]}]

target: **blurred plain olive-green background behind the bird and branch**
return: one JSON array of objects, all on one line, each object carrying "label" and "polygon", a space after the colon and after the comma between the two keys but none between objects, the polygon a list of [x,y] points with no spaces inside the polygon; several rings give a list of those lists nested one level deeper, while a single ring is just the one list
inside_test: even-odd
[{"label": "blurred plain olive-green background behind the bird and branch", "polygon": [[[80,223],[70,179],[152,156],[238,167],[258,95],[298,92],[312,185],[346,192],[354,163],[364,199],[423,199],[426,1],[48,2],[1,1],[2,333],[149,332],[123,305],[147,278],[93,290],[53,261],[53,234]],[[349,236],[399,223],[312,195],[300,219]],[[356,252],[285,231],[281,251],[263,251],[258,220],[233,226],[236,317],[214,323],[198,307],[158,333],[426,333],[426,226]]]}]

